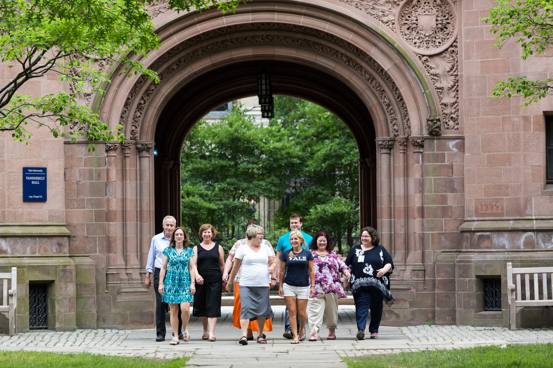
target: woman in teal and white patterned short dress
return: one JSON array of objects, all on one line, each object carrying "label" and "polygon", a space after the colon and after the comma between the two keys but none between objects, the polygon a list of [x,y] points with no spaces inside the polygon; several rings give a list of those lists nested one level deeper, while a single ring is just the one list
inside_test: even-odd
[{"label": "woman in teal and white patterned short dress", "polygon": [[[171,312],[171,328],[173,340],[171,345],[179,344],[179,305],[181,308],[182,336],[184,341],[190,341],[190,334],[186,329],[190,319],[190,303],[194,302],[195,275],[194,275],[194,250],[189,247],[189,238],[182,227],[173,231],[169,247],[163,251],[163,264],[159,271],[159,294],[161,301],[169,303]],[[165,276],[166,273],[166,276]]]}]

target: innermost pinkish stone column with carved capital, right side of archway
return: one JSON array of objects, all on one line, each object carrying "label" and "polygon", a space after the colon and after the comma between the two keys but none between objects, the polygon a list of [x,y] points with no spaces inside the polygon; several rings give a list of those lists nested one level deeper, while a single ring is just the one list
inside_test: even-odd
[{"label": "innermost pinkish stone column with carved capital, right side of archway", "polygon": [[[378,219],[378,232],[380,233],[381,244],[392,252],[395,250],[393,237],[393,182],[392,182],[392,148],[394,147],[393,138],[378,138],[377,145],[379,150],[380,160],[380,177],[379,183],[379,207],[380,218]],[[393,254],[392,254],[393,257]]]}]

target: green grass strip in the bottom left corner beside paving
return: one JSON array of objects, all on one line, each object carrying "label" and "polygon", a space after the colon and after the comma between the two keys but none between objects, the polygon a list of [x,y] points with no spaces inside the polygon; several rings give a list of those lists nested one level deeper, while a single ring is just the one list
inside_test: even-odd
[{"label": "green grass strip in the bottom left corner beside paving", "polygon": [[142,368],[164,367],[181,368],[190,359],[189,356],[173,360],[129,358],[98,354],[60,354],[41,353],[39,351],[0,351],[1,368],[31,367],[102,367],[102,368]]}]

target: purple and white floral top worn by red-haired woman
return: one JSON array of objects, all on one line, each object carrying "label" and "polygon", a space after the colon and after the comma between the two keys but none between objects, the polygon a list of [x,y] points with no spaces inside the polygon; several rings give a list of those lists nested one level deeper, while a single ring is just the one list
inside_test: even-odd
[{"label": "purple and white floral top worn by red-haired woman", "polygon": [[340,272],[350,271],[342,257],[335,250],[327,255],[320,256],[313,253],[313,268],[315,269],[315,296],[321,294],[336,294],[338,298],[345,298]]}]

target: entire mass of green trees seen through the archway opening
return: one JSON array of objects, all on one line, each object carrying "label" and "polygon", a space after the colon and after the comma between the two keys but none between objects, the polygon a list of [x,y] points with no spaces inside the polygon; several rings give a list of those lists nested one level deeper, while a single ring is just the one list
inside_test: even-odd
[{"label": "entire mass of green trees seen through the archway opening", "polygon": [[200,122],[182,151],[182,218],[197,233],[202,223],[223,230],[242,227],[261,196],[283,200],[275,214],[278,234],[290,214],[304,217],[302,230],[326,231],[336,239],[358,227],[358,151],[335,115],[321,106],[275,97],[277,116],[268,126],[234,108],[217,124]]}]

